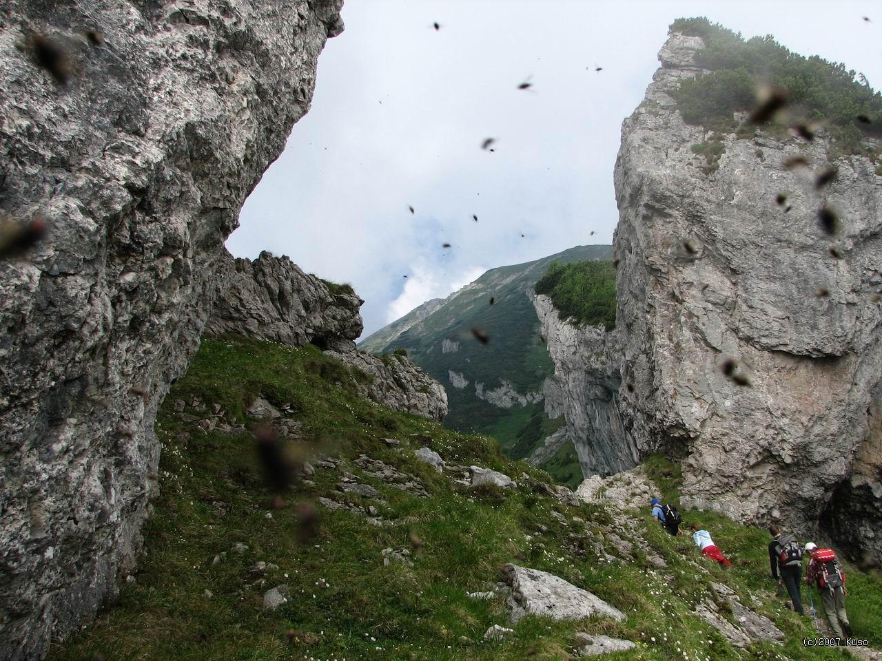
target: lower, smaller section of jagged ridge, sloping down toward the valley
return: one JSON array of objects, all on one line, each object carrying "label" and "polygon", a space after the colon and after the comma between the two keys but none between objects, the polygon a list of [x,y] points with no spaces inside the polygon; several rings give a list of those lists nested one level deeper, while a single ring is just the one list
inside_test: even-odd
[{"label": "lower, smaller section of jagged ridge, sloping down toward the valley", "polygon": [[325,353],[370,376],[370,383],[358,384],[363,397],[396,411],[414,413],[432,420],[444,420],[447,415],[447,391],[444,386],[416,367],[407,356],[380,358],[360,351]]}]

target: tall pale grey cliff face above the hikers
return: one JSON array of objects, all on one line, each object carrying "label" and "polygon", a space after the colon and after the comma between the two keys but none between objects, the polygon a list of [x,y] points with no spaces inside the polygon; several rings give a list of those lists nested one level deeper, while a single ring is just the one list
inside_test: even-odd
[{"label": "tall pale grey cliff face above the hikers", "polygon": [[[823,130],[811,142],[718,134],[718,167],[704,167],[691,145],[710,135],[670,95],[701,71],[702,47],[669,38],[622,128],[617,328],[594,343],[620,361],[618,442],[625,455],[681,457],[691,505],[805,532],[834,519],[841,542],[878,556],[882,177],[867,158],[840,158],[816,190]],[[811,169],[787,167],[795,156]],[[818,227],[822,204],[842,219],[833,238]],[[726,360],[749,385],[724,374]]]}]

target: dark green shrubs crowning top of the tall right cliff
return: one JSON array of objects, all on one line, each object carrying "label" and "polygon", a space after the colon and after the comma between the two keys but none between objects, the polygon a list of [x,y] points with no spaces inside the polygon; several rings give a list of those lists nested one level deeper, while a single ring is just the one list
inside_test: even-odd
[{"label": "dark green shrubs crowning top of the tall right cliff", "polygon": [[[826,122],[842,153],[861,153],[864,137],[882,136],[878,120],[882,95],[873,91],[862,74],[847,70],[844,64],[792,53],[770,34],[745,40],[741,33],[704,17],[676,19],[670,32],[701,37],[705,48],[695,60],[711,70],[684,80],[674,93],[686,123],[717,130],[730,127],[733,112],[753,106],[760,85],[773,85],[788,91],[794,117]],[[873,121],[859,122],[858,115]]]}]

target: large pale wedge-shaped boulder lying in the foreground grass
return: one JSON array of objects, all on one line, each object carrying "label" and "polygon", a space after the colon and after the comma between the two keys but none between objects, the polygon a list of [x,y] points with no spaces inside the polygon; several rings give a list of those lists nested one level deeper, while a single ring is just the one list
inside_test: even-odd
[{"label": "large pale wedge-shaped boulder lying in the foreground grass", "polygon": [[624,613],[614,606],[548,572],[510,564],[505,566],[505,580],[512,586],[508,603],[512,621],[531,614],[553,620],[594,616],[624,620]]}]

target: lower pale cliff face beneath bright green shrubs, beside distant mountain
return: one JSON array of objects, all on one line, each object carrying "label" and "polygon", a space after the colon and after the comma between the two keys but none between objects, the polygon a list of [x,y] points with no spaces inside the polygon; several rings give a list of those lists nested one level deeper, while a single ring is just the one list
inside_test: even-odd
[{"label": "lower pale cliff face beneath bright green shrubs, beside distant mountain", "polygon": [[624,432],[619,410],[620,360],[615,337],[602,327],[577,328],[561,319],[544,294],[533,295],[554,377],[545,390],[555,393],[585,475],[610,475],[637,464],[639,454]]}]

